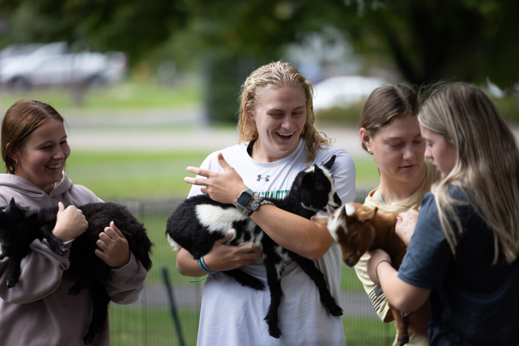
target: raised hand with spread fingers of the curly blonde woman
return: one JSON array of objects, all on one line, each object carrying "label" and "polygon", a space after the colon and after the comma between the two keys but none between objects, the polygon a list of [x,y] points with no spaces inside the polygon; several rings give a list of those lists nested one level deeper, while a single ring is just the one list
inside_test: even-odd
[{"label": "raised hand with spread fingers of the curly blonde woman", "polygon": [[236,170],[225,161],[222,153],[218,154],[218,163],[224,169],[223,171],[210,171],[197,167],[188,167],[189,173],[194,173],[204,178],[185,177],[184,182],[201,185],[200,191],[207,193],[213,201],[234,204],[240,196],[241,191],[247,190],[247,186],[243,184],[243,180]]}]

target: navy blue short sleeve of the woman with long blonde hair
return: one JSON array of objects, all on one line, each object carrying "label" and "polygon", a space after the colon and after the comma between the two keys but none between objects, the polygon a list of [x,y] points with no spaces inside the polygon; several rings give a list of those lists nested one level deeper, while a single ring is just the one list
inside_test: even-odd
[{"label": "navy blue short sleeve of the woman with long blonde hair", "polygon": [[443,233],[434,196],[422,199],[418,222],[398,271],[401,280],[424,288],[439,288],[445,278],[452,253]]}]

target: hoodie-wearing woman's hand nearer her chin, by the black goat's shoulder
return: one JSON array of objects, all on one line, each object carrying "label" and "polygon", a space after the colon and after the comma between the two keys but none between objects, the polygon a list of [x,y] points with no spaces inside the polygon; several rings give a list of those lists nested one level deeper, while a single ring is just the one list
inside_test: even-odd
[{"label": "hoodie-wearing woman's hand nearer her chin, by the black goat's shoulder", "polygon": [[61,241],[69,241],[79,237],[88,227],[88,222],[83,212],[74,205],[66,207],[63,203],[58,202],[58,214],[56,214],[56,225],[52,230],[52,234]]}]

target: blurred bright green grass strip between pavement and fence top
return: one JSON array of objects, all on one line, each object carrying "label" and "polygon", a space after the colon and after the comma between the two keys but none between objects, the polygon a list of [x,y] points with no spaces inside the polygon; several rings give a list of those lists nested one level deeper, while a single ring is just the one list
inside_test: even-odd
[{"label": "blurred bright green grass strip between pavement and fence top", "polygon": [[[188,165],[198,166],[209,151],[110,152],[74,150],[67,159],[67,175],[103,200],[180,200],[190,185],[184,183]],[[374,161],[355,159],[357,186],[376,186]]]}]

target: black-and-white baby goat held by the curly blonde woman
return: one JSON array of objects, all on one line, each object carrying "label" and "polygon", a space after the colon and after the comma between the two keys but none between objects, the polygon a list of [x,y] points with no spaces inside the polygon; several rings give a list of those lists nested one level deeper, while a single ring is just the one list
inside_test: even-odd
[{"label": "black-and-white baby goat held by the curly blonde woman", "polygon": [[[297,174],[289,194],[284,199],[265,198],[280,209],[306,218],[324,210],[327,204],[339,206],[341,201],[335,192],[330,168],[335,155],[321,166],[317,164]],[[281,275],[293,260],[316,283],[321,302],[333,316],[343,314],[326,287],[324,275],[312,260],[299,256],[276,244],[257,226],[249,216],[244,215],[232,204],[218,203],[208,195],[197,195],[186,199],[170,216],[166,234],[170,243],[185,248],[195,259],[206,255],[216,240],[233,239],[229,245],[254,243],[261,249],[267,269],[267,283],[270,289],[270,306],[265,321],[270,336],[279,338],[278,308],[281,300]],[[240,269],[224,271],[240,284],[254,289],[263,289],[263,283]]]}]

